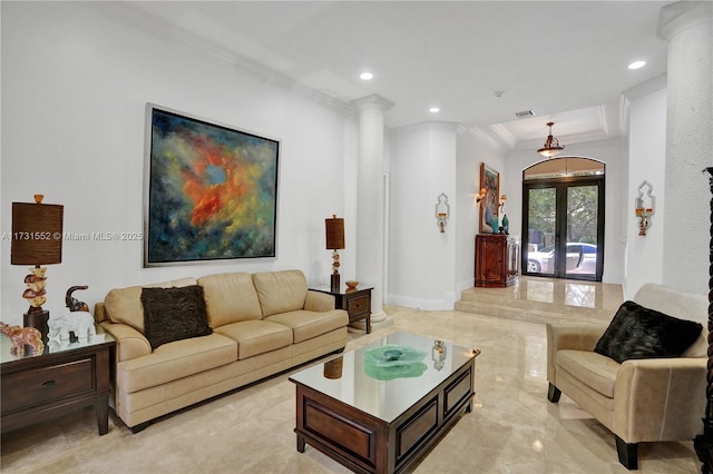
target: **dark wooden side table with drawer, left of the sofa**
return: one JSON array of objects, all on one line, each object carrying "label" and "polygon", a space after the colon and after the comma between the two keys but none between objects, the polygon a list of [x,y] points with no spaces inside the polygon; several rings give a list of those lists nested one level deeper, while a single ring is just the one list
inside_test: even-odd
[{"label": "dark wooden side table with drawer, left of the sofa", "polygon": [[0,342],[2,432],[94,405],[99,435],[109,431],[109,367],[116,345],[99,337],[45,347],[41,355],[14,358],[9,340]]}]

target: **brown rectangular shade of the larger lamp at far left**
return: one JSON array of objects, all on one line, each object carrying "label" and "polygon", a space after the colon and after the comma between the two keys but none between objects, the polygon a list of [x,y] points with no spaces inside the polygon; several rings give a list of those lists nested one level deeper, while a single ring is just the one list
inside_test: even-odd
[{"label": "brown rectangular shade of the larger lamp at far left", "polygon": [[12,265],[62,263],[65,207],[56,204],[12,203]]}]

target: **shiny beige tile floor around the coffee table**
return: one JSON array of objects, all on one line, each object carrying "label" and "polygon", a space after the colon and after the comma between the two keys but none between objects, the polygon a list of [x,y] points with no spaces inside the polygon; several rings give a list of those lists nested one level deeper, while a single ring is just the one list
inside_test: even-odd
[{"label": "shiny beige tile floor around the coffee table", "polygon": [[[553,303],[567,298],[553,285]],[[589,284],[587,284],[589,285]],[[543,285],[535,285],[543,287]],[[587,292],[608,293],[593,285]],[[555,288],[556,287],[556,288]],[[582,298],[613,304],[618,296]],[[527,292],[510,292],[527,294]],[[530,292],[543,298],[541,290]],[[559,295],[559,296],[556,296]],[[621,295],[621,290],[619,290]],[[527,296],[516,296],[527,298]],[[547,296],[545,296],[547,297]],[[563,304],[565,304],[563,302]],[[576,303],[575,303],[576,304]],[[408,330],[482,350],[475,409],[417,466],[416,473],[626,473],[614,436],[565,395],[547,402],[545,327],[460,312],[385,307],[393,324],[350,333],[348,349]],[[2,435],[2,473],[348,473],[307,446],[295,450],[294,386],[282,374],[184,409],[131,434],[111,416],[98,436],[91,409]],[[639,472],[697,473],[693,443],[643,443]]]}]

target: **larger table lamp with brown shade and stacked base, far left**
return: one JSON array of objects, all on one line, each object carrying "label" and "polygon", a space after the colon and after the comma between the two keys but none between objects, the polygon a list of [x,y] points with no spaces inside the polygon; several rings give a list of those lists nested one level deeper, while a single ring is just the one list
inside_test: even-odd
[{"label": "larger table lamp with brown shade and stacked base, far left", "polygon": [[25,277],[27,289],[22,297],[30,304],[25,313],[23,325],[35,327],[47,339],[49,312],[42,309],[47,300],[42,265],[62,263],[62,219],[65,207],[42,204],[45,196],[35,195],[35,204],[12,203],[12,265],[35,265]]}]

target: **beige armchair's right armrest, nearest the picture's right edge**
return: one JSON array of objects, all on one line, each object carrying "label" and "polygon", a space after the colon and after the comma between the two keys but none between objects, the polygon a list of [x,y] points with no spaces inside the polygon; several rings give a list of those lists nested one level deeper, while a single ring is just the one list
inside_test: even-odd
[{"label": "beige armchair's right armrest, nearest the picture's right edge", "polygon": [[705,357],[625,361],[614,385],[613,432],[626,443],[692,440],[705,415]]}]

